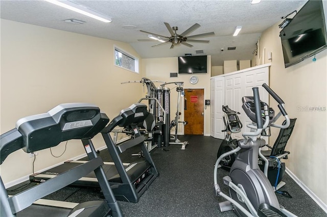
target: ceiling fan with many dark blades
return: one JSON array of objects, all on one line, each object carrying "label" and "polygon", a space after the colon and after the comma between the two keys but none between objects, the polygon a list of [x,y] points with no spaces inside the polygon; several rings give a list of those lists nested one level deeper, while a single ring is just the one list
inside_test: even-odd
[{"label": "ceiling fan with many dark blades", "polygon": [[153,40],[138,40],[138,41],[160,41],[162,43],[160,44],[156,44],[153,45],[152,47],[155,46],[159,46],[162,44],[167,44],[167,43],[172,43],[170,48],[174,48],[175,45],[179,45],[179,44],[183,44],[186,45],[188,47],[193,47],[192,44],[186,43],[186,41],[188,42],[200,42],[200,43],[209,43],[210,41],[207,40],[194,40],[194,38],[202,38],[202,37],[208,37],[208,36],[214,36],[215,33],[211,32],[211,33],[203,33],[203,34],[198,34],[198,35],[193,35],[193,36],[188,36],[189,34],[191,34],[193,31],[195,31],[196,29],[198,29],[201,25],[198,23],[195,23],[194,25],[192,25],[189,29],[185,30],[182,34],[177,34],[176,31],[178,30],[177,26],[173,26],[173,28],[171,28],[170,24],[167,22],[164,22],[169,33],[170,33],[170,37],[167,36],[162,36],[162,35],[158,35],[155,33],[150,33],[150,32],[146,32],[143,30],[140,30],[143,33],[148,33],[151,34],[148,37],[151,37]]}]

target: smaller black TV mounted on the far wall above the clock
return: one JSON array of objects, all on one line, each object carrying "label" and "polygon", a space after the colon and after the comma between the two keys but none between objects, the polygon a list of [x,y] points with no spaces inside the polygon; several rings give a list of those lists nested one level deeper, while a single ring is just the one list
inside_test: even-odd
[{"label": "smaller black TV mounted on the far wall above the clock", "polygon": [[207,56],[178,57],[178,73],[206,73]]}]

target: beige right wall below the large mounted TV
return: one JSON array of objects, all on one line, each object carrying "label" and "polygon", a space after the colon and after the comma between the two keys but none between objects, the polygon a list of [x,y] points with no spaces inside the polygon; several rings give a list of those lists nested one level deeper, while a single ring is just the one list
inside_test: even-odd
[{"label": "beige right wall below the large mounted TV", "polygon": [[[316,62],[308,58],[285,68],[278,25],[266,30],[260,39],[259,55],[269,63],[272,52],[270,87],[285,101],[291,118],[297,118],[293,134],[287,144],[290,151],[287,168],[324,204],[327,204],[327,145],[326,145],[326,72],[327,50],[316,55]],[[263,53],[265,50],[266,53]],[[273,98],[270,104],[275,106]],[[305,111],[307,106],[319,106],[324,111]],[[275,141],[274,130],[270,141]],[[271,144],[273,145],[273,144]]]}]

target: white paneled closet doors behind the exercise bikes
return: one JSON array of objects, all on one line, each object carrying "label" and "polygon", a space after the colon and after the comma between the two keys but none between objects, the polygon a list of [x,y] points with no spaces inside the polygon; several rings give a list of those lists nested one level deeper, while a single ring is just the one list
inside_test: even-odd
[{"label": "white paneled closet doors behind the exercise bikes", "polygon": [[[228,105],[232,110],[240,112],[240,121],[243,124],[242,131],[234,133],[235,139],[242,139],[244,131],[250,131],[246,127],[251,123],[242,109],[242,97],[253,96],[252,87],[259,87],[260,99],[269,104],[269,94],[262,87],[263,83],[269,85],[269,66],[268,64],[249,68],[240,72],[225,74],[211,79],[212,84],[212,111],[211,111],[211,135],[217,139],[224,139],[225,129],[223,123],[222,105]],[[267,141],[268,142],[268,141]]]}]

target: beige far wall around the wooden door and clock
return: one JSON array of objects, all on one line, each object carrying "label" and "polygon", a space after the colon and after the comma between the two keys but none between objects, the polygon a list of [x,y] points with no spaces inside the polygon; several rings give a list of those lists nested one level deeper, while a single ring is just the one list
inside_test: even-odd
[{"label": "beige far wall around the wooden door and clock", "polygon": [[[204,98],[210,99],[210,77],[211,77],[211,56],[208,56],[208,72],[205,74],[196,74],[199,78],[199,82],[195,85],[192,85],[189,82],[190,74],[179,74],[178,77],[170,77],[171,72],[178,72],[178,61],[177,57],[172,58],[151,58],[142,60],[142,71],[145,73],[146,77],[151,80],[160,80],[162,82],[184,82],[184,89],[204,89]],[[159,84],[155,84],[157,87]],[[171,105],[170,105],[170,117],[171,120],[175,118],[177,111],[177,91],[176,85],[168,85],[171,89]],[[183,99],[181,100],[183,101]],[[181,118],[180,121],[184,121],[184,104],[181,103],[180,112]],[[185,120],[187,121],[187,120]],[[184,126],[178,126],[178,133],[184,133]],[[175,132],[175,131],[174,131]],[[207,109],[204,110],[204,135],[210,135],[210,106],[207,106]]]}]

